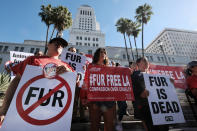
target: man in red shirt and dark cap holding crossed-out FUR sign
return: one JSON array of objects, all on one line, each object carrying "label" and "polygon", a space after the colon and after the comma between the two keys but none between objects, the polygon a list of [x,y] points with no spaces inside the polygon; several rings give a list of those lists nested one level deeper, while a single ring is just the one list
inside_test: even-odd
[{"label": "man in red shirt and dark cap holding crossed-out FUR sign", "polygon": [[58,59],[59,55],[62,53],[63,48],[67,45],[68,43],[66,40],[62,38],[54,38],[49,41],[48,52],[46,56],[30,56],[23,62],[11,67],[11,70],[16,74],[16,77],[10,83],[6,91],[4,102],[0,109],[1,121],[6,115],[6,112],[9,108],[9,105],[19,84],[21,76],[23,75],[26,65],[44,67],[48,63],[54,63],[57,67],[56,74],[61,74],[67,71],[73,71],[73,69],[67,63],[62,62]]}]

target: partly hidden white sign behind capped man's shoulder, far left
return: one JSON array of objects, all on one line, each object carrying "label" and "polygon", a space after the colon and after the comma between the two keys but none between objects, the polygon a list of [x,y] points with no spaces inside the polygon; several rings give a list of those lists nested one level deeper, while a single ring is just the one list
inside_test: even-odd
[{"label": "partly hidden white sign behind capped man's shoulder, far left", "polygon": [[10,51],[10,61],[13,63],[20,63],[24,61],[28,56],[33,56],[32,53]]}]

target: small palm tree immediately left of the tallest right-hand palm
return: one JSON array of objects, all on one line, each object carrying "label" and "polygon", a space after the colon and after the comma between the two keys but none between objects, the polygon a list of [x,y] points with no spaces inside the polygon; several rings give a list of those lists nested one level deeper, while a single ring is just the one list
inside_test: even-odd
[{"label": "small palm tree immediately left of the tallest right-hand palm", "polygon": [[139,29],[140,25],[137,22],[133,22],[133,26],[132,26],[132,35],[134,38],[134,42],[135,42],[135,49],[136,49],[136,54],[137,54],[137,59],[138,59],[138,49],[137,49],[137,43],[136,43],[136,38],[138,37],[141,29]]}]

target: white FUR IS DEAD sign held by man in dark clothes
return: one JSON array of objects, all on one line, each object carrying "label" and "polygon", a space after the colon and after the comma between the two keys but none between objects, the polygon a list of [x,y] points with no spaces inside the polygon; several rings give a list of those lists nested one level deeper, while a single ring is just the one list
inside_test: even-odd
[{"label": "white FUR IS DEAD sign held by man in dark clothes", "polygon": [[149,91],[149,107],[153,125],[184,123],[185,119],[170,77],[144,74],[146,89]]}]

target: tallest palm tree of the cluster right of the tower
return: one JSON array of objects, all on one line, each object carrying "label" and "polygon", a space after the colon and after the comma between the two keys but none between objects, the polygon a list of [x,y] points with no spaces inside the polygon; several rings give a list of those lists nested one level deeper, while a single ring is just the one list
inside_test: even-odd
[{"label": "tallest palm tree of the cluster right of the tower", "polygon": [[147,24],[147,22],[151,18],[151,15],[153,14],[151,9],[152,7],[148,4],[141,5],[136,9],[135,18],[142,25],[142,56],[143,57],[144,57],[144,38],[143,38],[144,37],[144,24]]}]

